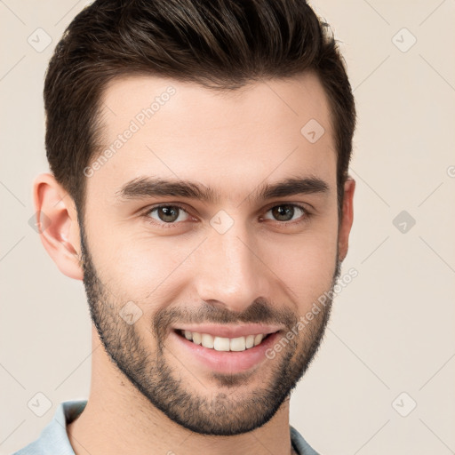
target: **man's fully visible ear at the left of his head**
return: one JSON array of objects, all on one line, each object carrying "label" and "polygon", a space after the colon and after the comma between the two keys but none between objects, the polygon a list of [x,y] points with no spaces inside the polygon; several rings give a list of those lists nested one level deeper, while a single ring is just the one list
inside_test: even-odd
[{"label": "man's fully visible ear at the left of his head", "polygon": [[33,199],[44,248],[62,274],[82,280],[79,224],[73,199],[50,173],[36,177]]}]

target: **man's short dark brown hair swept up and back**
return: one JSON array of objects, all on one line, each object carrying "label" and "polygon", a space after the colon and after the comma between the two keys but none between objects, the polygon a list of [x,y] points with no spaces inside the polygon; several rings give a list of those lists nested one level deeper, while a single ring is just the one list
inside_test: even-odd
[{"label": "man's short dark brown hair swept up and back", "polygon": [[96,0],[85,7],[46,72],[51,171],[82,217],[83,170],[100,154],[100,99],[118,76],[164,76],[235,90],[307,71],[319,77],[331,107],[340,215],[355,101],[330,28],[304,0]]}]

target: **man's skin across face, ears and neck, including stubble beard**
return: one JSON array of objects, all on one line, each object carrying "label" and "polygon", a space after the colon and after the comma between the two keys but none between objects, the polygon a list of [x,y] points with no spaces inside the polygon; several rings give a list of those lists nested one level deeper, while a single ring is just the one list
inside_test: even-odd
[{"label": "man's skin across face, ears and neck, including stubble beard", "polygon": [[[36,210],[52,221],[44,247],[63,274],[84,281],[93,322],[91,394],[68,436],[77,455],[289,454],[291,389],[319,346],[331,302],[273,360],[243,373],[195,362],[171,326],[275,323],[290,331],[339,275],[355,181],[345,184],[339,223],[330,111],[311,74],[222,93],[152,76],[117,79],[103,98],[104,148],[169,86],[172,97],[87,179],[84,225],[51,174],[35,181]],[[300,132],[310,119],[325,130],[315,143]],[[329,191],[247,198],[265,182],[309,175]],[[195,181],[220,197],[116,196],[144,176]],[[150,212],[163,203],[184,211],[166,223],[170,212]],[[287,219],[271,210],[289,204],[309,218],[298,208]],[[210,223],[220,211],[233,220],[223,234]],[[140,308],[132,324],[120,317],[127,302]]]}]

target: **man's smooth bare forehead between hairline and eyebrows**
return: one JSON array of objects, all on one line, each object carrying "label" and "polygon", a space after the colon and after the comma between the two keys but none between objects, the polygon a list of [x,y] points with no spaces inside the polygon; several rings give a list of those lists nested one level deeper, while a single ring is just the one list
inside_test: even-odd
[{"label": "man's smooth bare forehead between hairline and eyebrows", "polygon": [[108,84],[101,101],[89,198],[91,188],[115,196],[144,176],[198,181],[243,198],[264,180],[336,175],[329,103],[310,73],[223,92],[129,76]]}]

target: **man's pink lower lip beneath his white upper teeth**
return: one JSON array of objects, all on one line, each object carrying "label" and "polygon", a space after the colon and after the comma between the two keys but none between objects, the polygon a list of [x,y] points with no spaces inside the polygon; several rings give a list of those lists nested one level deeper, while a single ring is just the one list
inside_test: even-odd
[{"label": "man's pink lower lip beneath his white upper teeth", "polygon": [[275,344],[280,332],[276,331],[264,339],[258,346],[250,347],[244,351],[216,351],[209,347],[196,345],[185,337],[172,331],[171,335],[197,362],[202,363],[212,371],[220,373],[236,373],[250,370],[267,359],[266,351]]}]

